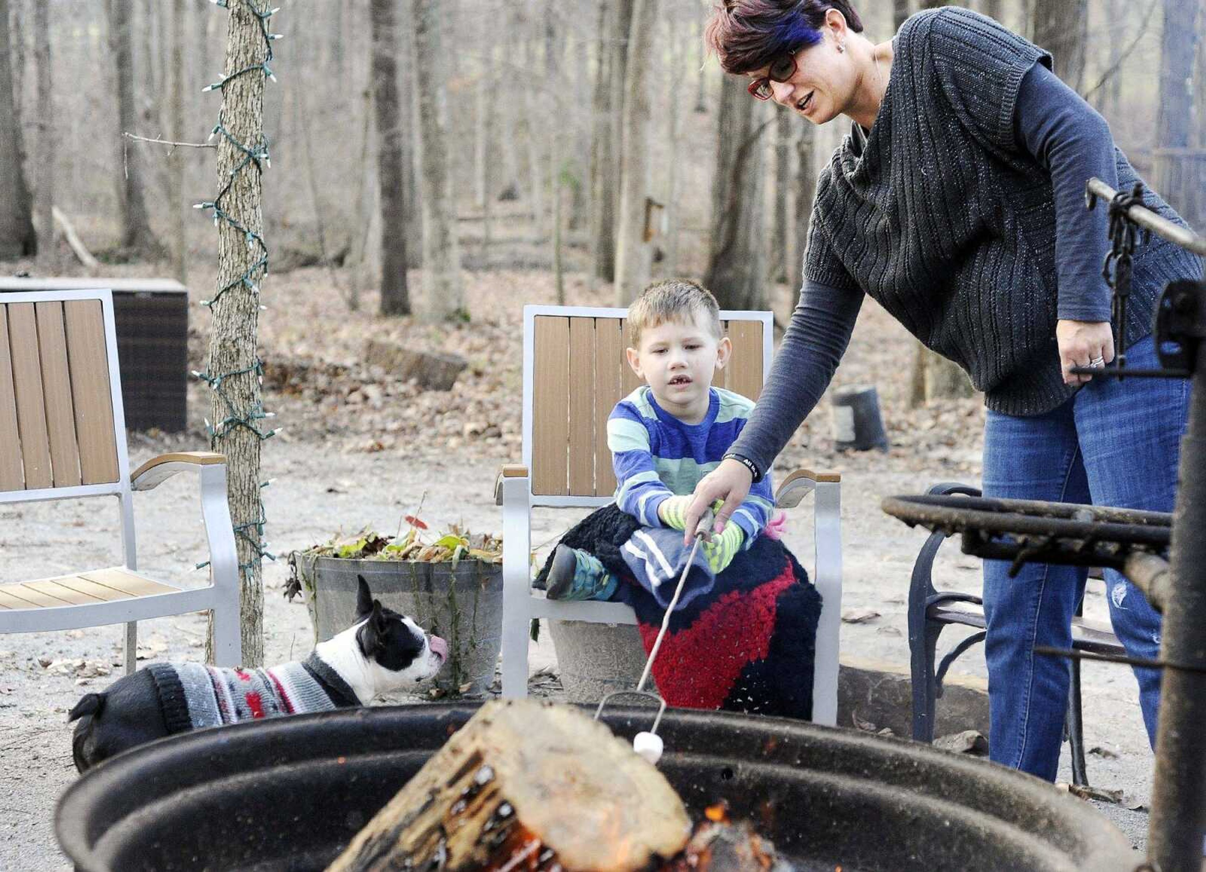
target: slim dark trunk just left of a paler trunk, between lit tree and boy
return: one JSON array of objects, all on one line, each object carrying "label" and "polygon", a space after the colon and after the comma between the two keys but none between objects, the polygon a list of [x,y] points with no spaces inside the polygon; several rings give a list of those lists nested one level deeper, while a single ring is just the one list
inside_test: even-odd
[{"label": "slim dark trunk just left of a paler trunk, between lit tree and boy", "polygon": [[396,0],[373,0],[373,109],[381,191],[381,315],[410,315],[406,287],[406,206],[402,112],[398,105]]}]

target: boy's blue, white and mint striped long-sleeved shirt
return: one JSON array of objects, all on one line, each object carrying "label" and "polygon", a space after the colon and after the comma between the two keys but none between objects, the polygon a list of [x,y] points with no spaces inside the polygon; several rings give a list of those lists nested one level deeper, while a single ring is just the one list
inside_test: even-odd
[{"label": "boy's blue, white and mint striped long-sleeved shirt", "polygon": [[[708,414],[697,425],[684,423],[662,409],[648,385],[616,403],[607,421],[607,445],[615,467],[615,502],[648,527],[665,527],[657,507],[671,496],[685,496],[720,464],[745,427],[754,402],[724,388],[709,388]],[[745,546],[766,527],[774,511],[771,476],[755,484],[733,513],[745,531]]]}]

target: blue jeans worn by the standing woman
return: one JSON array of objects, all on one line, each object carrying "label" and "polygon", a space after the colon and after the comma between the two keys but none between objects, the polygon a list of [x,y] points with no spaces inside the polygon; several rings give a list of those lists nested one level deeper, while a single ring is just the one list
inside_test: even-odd
[{"label": "blue jeans worn by the standing woman", "polygon": [[[1128,349],[1126,364],[1159,367],[1151,336]],[[989,411],[984,496],[1172,511],[1189,387],[1184,379],[1099,379],[1046,415]],[[1007,561],[984,562],[990,756],[1053,782],[1070,668],[1066,660],[1037,656],[1034,649],[1071,646],[1087,569],[1026,563],[1015,578],[1008,569]],[[1160,615],[1138,589],[1107,569],[1106,596],[1128,654],[1158,657]],[[1160,675],[1136,668],[1135,677],[1154,747]]]}]

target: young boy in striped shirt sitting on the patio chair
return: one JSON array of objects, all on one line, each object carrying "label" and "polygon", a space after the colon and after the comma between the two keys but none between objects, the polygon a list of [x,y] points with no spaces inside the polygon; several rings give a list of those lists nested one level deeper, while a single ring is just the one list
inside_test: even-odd
[{"label": "young boy in striped shirt sitting on the patio chair", "polygon": [[[691,492],[745,426],[754,402],[712,386],[732,344],[710,292],[684,280],[649,286],[628,308],[628,365],[644,385],[608,416],[615,501],[640,523],[621,549],[636,579],[669,604],[690,549],[683,545]],[[716,573],[749,548],[774,511],[769,476],[750,488],[724,533],[697,552],[681,604],[712,587]],[[593,555],[558,545],[549,570],[550,599],[610,599],[617,581]]]}]

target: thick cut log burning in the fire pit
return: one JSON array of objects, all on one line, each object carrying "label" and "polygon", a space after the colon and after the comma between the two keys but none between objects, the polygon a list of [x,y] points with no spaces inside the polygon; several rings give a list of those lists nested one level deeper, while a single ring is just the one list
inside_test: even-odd
[{"label": "thick cut log burning in the fire pit", "polygon": [[328,872],[628,872],[661,865],[690,837],[674,789],[603,724],[563,706],[494,701]]}]

